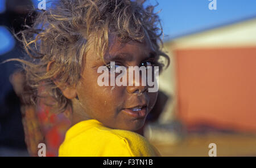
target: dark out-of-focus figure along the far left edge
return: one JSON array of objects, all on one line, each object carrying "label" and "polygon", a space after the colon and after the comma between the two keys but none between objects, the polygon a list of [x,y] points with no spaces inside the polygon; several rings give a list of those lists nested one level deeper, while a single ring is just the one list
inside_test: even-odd
[{"label": "dark out-of-focus figure along the far left edge", "polygon": [[[8,38],[1,37],[1,45],[6,46],[7,50],[0,53],[0,62],[9,58],[23,56],[22,48],[19,42],[15,41],[15,38],[11,36],[11,32],[18,32],[24,29],[22,25],[24,25],[24,19],[28,14],[27,9],[32,8],[32,2],[29,0],[8,0],[2,5],[5,5],[5,11],[0,14],[2,36],[10,36],[7,36]],[[26,22],[28,25],[31,24],[30,20]],[[14,62],[0,64],[0,156],[28,155],[24,143],[19,98],[9,80],[16,68]]]}]

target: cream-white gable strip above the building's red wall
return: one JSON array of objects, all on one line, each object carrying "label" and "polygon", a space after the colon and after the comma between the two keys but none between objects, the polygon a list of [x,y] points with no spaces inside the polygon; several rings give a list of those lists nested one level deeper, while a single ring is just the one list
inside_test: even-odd
[{"label": "cream-white gable strip above the building's red wall", "polygon": [[166,44],[172,49],[256,46],[256,19],[176,38]]}]

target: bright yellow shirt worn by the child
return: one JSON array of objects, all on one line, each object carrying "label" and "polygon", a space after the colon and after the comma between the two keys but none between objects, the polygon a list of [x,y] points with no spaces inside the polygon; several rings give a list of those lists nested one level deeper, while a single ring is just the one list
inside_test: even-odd
[{"label": "bright yellow shirt worn by the child", "polygon": [[69,128],[59,156],[160,156],[148,141],[135,132],[105,127],[96,119]]}]

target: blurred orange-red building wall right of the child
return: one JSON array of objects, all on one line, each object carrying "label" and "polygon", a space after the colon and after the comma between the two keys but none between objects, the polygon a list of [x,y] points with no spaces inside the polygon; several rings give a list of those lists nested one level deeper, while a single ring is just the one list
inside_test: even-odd
[{"label": "blurred orange-red building wall right of the child", "polygon": [[178,117],[256,132],[256,47],[175,51]]}]

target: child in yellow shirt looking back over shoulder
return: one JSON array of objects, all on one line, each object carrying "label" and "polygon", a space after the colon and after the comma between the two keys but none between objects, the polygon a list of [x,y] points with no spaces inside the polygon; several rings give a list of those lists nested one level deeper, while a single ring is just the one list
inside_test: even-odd
[{"label": "child in yellow shirt looking back over shoulder", "polygon": [[153,10],[140,1],[60,0],[20,33],[32,60],[13,60],[24,64],[31,87],[46,89],[35,90],[34,97],[48,96],[55,113],[73,111],[59,156],[160,156],[134,132],[158,92],[148,92],[142,79],[127,86],[98,84],[102,66],[161,70],[160,56],[169,62],[159,49],[162,29]]}]

